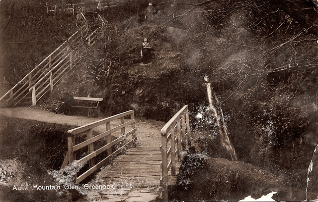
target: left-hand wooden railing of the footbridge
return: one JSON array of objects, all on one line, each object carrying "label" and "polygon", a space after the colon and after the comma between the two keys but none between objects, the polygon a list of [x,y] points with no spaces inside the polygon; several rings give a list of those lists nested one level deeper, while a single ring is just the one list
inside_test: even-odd
[{"label": "left-hand wooden railing of the footbridge", "polygon": [[[130,116],[130,120],[125,122],[125,116]],[[113,120],[120,120],[120,125],[114,127],[111,129],[110,122]],[[93,123],[80,126],[78,128],[72,129],[68,131],[68,153],[65,157],[65,160],[63,162],[63,165],[61,168],[65,167],[68,163],[72,163],[73,160],[76,160],[76,151],[78,151],[81,148],[88,147],[88,155],[78,159],[75,162],[76,166],[79,166],[83,162],[89,162],[89,169],[85,171],[83,174],[81,174],[79,177],[76,178],[76,183],[80,183],[82,180],[84,180],[86,177],[94,173],[96,170],[98,170],[101,166],[106,164],[114,155],[121,152],[123,149],[126,148],[127,145],[133,144],[135,145],[137,137],[136,137],[136,127],[135,127],[135,114],[134,110],[126,111],[99,121],[95,121]],[[93,137],[92,129],[100,126],[105,125],[105,132],[100,133]],[[130,126],[130,131],[126,133],[126,127]],[[111,134],[116,131],[121,131],[120,137],[116,138],[115,140],[111,140]],[[76,144],[74,135],[85,132],[87,135],[87,140]],[[131,140],[126,143],[126,138],[129,136],[132,136]],[[102,139],[106,138],[106,145],[99,148],[98,150],[94,151],[94,145],[93,143]],[[123,142],[124,145],[121,146],[119,149],[117,149],[115,152],[112,152],[112,147],[119,143]],[[102,159],[100,162],[97,162],[95,164],[94,157],[99,155],[102,152],[107,151],[107,157]]]}]

